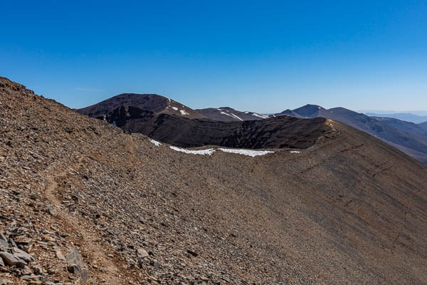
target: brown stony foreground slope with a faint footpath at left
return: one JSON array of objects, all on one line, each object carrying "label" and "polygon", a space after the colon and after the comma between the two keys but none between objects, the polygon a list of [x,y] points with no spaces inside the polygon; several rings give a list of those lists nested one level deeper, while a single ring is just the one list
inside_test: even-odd
[{"label": "brown stony foreground slope with a faint footpath at left", "polygon": [[427,284],[427,167],[369,135],[191,155],[0,78],[0,284]]}]

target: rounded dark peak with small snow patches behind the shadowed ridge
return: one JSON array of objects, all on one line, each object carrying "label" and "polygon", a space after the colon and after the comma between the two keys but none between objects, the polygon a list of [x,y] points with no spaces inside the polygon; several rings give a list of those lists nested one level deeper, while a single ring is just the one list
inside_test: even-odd
[{"label": "rounded dark peak with small snow patches behind the shadowed ridge", "polygon": [[86,108],[78,109],[77,112],[93,118],[103,119],[114,113],[117,108],[134,107],[149,110],[155,114],[178,115],[184,118],[205,118],[195,110],[182,105],[170,98],[157,94],[135,94],[124,93]]}]

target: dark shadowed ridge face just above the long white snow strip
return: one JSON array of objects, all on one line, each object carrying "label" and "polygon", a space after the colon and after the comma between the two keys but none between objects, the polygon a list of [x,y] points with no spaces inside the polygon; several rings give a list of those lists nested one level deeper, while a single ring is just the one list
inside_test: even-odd
[{"label": "dark shadowed ridge face just above the long white snow strip", "polygon": [[307,120],[283,116],[243,122],[189,120],[176,115],[157,115],[134,106],[116,108],[105,120],[124,130],[181,147],[307,148],[320,138],[336,133],[325,118]]}]

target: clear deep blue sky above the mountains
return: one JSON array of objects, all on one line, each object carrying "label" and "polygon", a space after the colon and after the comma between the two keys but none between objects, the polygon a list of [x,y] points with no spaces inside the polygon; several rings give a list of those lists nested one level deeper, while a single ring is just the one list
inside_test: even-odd
[{"label": "clear deep blue sky above the mountains", "polygon": [[3,1],[0,76],[272,113],[427,109],[427,1]]}]

